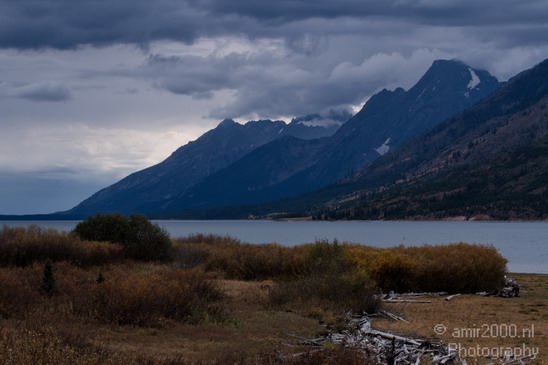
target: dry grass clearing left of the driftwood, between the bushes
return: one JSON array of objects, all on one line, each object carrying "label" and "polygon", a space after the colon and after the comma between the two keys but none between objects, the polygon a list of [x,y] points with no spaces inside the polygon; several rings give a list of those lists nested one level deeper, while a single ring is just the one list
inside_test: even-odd
[{"label": "dry grass clearing left of the driftwood, between the bushes", "polygon": [[[150,357],[183,357],[189,362],[233,363],[251,361],[273,354],[297,336],[311,338],[323,327],[317,320],[295,312],[266,307],[266,282],[220,281],[231,321],[223,325],[207,323],[182,325],[171,323],[164,328],[110,326],[101,331],[95,344],[116,353]],[[246,362],[247,363],[247,362]]]}]

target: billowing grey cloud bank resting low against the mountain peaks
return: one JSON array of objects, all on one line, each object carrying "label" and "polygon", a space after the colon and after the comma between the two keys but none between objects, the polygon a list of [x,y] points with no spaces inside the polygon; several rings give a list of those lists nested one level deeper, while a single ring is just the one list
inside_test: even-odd
[{"label": "billowing grey cloud bank resting low against the mountain peaks", "polygon": [[416,82],[415,75],[443,56],[422,49],[407,57],[380,53],[358,63],[324,63],[322,57],[287,55],[265,47],[226,56],[154,55],[142,68],[119,74],[146,77],[161,89],[195,99],[230,91],[231,98],[210,110],[212,118],[275,118],[348,109],[382,87]]}]

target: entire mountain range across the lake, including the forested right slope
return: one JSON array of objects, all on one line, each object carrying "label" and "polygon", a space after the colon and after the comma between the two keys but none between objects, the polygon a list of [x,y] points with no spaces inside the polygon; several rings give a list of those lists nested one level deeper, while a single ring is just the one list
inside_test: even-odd
[{"label": "entire mountain range across the lake, including the forested right slope", "polygon": [[225,119],[73,209],[32,218],[546,219],[547,115],[548,60],[505,83],[438,60],[355,115]]}]

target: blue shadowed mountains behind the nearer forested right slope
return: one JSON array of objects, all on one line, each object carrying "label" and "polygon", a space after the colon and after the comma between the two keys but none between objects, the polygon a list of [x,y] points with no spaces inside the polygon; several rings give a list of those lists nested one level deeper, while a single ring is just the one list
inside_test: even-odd
[{"label": "blue shadowed mountains behind the nearer forested right slope", "polygon": [[225,120],[162,163],[99,191],[67,213],[176,217],[192,209],[296,196],[349,176],[498,87],[486,71],[459,61],[435,61],[409,91],[379,92],[344,124],[347,115],[309,115],[289,124]]}]

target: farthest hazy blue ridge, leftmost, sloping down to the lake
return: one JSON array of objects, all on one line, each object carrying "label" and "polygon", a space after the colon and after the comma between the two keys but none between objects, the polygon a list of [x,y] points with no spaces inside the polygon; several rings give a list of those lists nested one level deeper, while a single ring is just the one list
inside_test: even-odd
[{"label": "farthest hazy blue ridge, leftmost, sloping down to the lake", "polygon": [[[347,117],[341,115],[342,118]],[[318,115],[303,117],[316,121],[307,126],[300,120],[290,124],[260,120],[245,125],[231,119],[196,141],[180,147],[163,162],[138,171],[97,192],[69,215],[89,215],[96,212],[148,213],[162,210],[171,199],[184,194],[204,177],[239,160],[254,149],[283,136],[315,139],[332,135],[343,121],[331,121],[324,127]],[[338,123],[338,124],[337,124]]]}]

